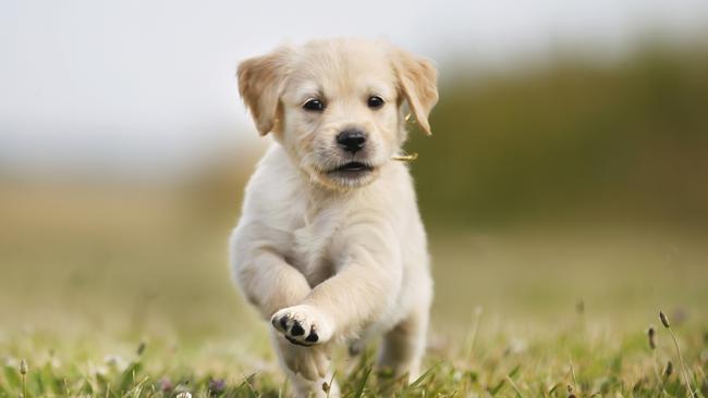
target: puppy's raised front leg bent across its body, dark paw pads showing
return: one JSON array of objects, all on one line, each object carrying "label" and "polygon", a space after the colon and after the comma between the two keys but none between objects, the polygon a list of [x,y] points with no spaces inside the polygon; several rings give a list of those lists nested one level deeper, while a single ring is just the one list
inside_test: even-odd
[{"label": "puppy's raised front leg bent across its body, dark paw pads showing", "polygon": [[386,229],[361,225],[332,245],[338,273],[298,304],[272,316],[291,343],[312,346],[333,336],[351,338],[379,320],[395,302],[402,266],[396,239]]}]

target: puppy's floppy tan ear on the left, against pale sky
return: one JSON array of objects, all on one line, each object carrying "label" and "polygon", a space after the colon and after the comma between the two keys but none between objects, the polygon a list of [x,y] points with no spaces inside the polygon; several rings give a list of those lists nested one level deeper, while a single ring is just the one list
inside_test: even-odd
[{"label": "puppy's floppy tan ear on the left, against pale sky", "polygon": [[289,48],[281,47],[269,54],[251,58],[239,64],[239,92],[261,136],[276,126],[290,53]]}]

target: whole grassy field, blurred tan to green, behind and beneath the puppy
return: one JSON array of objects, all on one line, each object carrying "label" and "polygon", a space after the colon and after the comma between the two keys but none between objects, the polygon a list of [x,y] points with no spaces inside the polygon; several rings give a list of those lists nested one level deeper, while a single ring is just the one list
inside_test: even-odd
[{"label": "whole grassy field, blurred tan to green, behind and beneath the puppy", "polygon": [[[230,281],[239,189],[195,200],[194,189],[5,186],[0,397],[285,395],[267,325]],[[404,386],[371,371],[374,347],[342,349],[344,396],[685,397],[682,373],[708,396],[703,235],[527,225],[430,237],[429,371]]]}]

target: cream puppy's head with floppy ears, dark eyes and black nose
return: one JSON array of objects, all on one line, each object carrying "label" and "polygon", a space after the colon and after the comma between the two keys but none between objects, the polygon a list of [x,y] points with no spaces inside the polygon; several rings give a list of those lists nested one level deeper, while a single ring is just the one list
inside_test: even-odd
[{"label": "cream puppy's head with floppy ears, dark eyes and black nose", "polygon": [[430,134],[438,101],[431,63],[384,42],[282,47],[239,65],[239,89],[261,135],[273,133],[316,183],[373,182],[406,138],[403,104]]}]

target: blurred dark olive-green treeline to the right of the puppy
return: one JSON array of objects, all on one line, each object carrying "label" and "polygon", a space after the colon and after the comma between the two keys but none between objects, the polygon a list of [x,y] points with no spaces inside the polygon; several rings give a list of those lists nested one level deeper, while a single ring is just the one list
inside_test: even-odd
[{"label": "blurred dark olive-green treeline to the right of the puppy", "polygon": [[407,148],[428,224],[708,225],[708,46],[457,70]]}]

